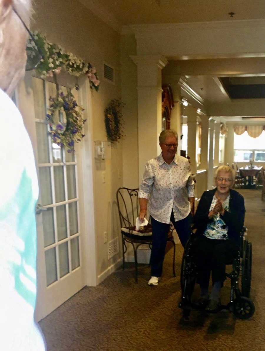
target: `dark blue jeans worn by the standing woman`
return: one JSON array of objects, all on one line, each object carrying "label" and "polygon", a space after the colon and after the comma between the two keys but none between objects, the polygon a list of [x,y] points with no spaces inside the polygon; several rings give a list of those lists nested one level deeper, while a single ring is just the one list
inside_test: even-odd
[{"label": "dark blue jeans worn by the standing woman", "polygon": [[[183,247],[190,236],[190,225],[192,223],[192,216],[189,214],[186,218],[175,221],[173,211],[170,220],[178,233],[179,240]],[[163,261],[165,258],[165,247],[167,245],[169,224],[161,223],[152,218],[152,251],[151,251],[151,276],[160,277],[163,269]]]}]

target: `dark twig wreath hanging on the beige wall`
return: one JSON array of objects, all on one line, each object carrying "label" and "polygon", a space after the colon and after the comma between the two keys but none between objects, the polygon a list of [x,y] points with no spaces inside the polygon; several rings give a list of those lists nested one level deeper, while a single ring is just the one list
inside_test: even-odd
[{"label": "dark twig wreath hanging on the beige wall", "polygon": [[124,102],[120,99],[113,99],[104,110],[106,133],[111,143],[120,140],[124,136],[124,120],[122,115],[122,107],[124,106]]}]

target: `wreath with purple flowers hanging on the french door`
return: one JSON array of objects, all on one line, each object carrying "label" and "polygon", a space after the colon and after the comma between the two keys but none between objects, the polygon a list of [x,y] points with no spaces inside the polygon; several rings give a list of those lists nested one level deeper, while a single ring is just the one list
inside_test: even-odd
[{"label": "wreath with purple flowers hanging on the french door", "polygon": [[84,137],[83,125],[86,122],[86,119],[82,118],[84,109],[77,105],[70,91],[67,95],[58,92],[56,98],[50,97],[49,101],[46,119],[52,141],[61,147],[64,146],[67,152],[74,152],[74,144]]}]

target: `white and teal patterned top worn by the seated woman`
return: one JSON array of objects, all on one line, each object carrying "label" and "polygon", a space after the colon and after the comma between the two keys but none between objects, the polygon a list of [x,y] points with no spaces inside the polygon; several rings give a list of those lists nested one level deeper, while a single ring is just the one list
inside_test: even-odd
[{"label": "white and teal patterned top worn by the seated woman", "polygon": [[[227,198],[223,202],[223,208],[228,211],[229,209],[229,199],[230,199],[230,194],[227,196]],[[216,205],[217,198],[213,196],[212,203],[210,206],[210,211],[213,210],[213,208]],[[223,219],[220,216],[220,213],[215,214],[213,216],[213,221],[208,223],[207,228],[204,232],[204,235],[209,238],[209,239],[219,239],[219,240],[227,240],[229,239],[227,236],[227,231],[228,227],[223,221]]]}]

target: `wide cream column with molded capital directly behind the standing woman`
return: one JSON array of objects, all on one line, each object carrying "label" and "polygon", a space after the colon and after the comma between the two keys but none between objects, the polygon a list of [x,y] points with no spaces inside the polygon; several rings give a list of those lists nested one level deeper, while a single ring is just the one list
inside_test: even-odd
[{"label": "wide cream column with molded capital directly behind the standing woman", "polygon": [[168,61],[161,55],[131,56],[137,65],[139,184],[145,163],[160,152],[162,131],[161,70]]}]

